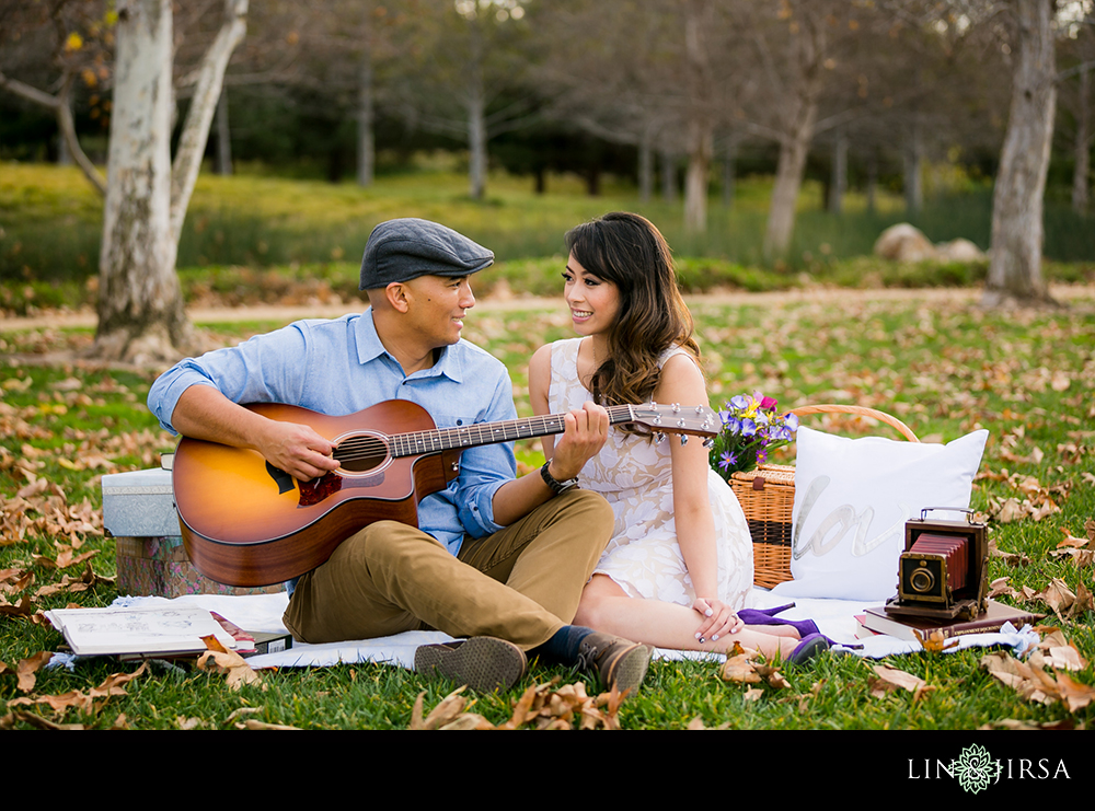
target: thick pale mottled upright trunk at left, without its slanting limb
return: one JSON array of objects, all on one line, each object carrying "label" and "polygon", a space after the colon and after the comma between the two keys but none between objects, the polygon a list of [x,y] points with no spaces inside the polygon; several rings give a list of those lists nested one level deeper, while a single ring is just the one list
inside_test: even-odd
[{"label": "thick pale mottled upright trunk at left, without its slanting limb", "polygon": [[117,9],[94,352],[149,362],[177,356],[192,338],[171,230],[171,0]]}]

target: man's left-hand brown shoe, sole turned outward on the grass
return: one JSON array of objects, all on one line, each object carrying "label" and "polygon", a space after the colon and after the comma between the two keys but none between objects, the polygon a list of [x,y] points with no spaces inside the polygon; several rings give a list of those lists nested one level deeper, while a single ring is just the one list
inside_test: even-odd
[{"label": "man's left-hand brown shoe, sole turned outward on the grass", "polygon": [[414,652],[418,673],[466,684],[476,693],[509,690],[525,675],[527,667],[523,650],[493,636],[423,645]]}]

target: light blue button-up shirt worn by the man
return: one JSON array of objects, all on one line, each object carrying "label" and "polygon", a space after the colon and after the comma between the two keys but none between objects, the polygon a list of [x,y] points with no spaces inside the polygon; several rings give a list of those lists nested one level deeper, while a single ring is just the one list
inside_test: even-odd
[{"label": "light blue button-up shirt worn by the man", "polygon": [[[192,385],[214,386],[235,403],[288,403],[334,416],[407,399],[429,412],[438,428],[517,417],[509,372],[497,358],[460,340],[445,347],[431,368],[407,376],[380,343],[371,309],[334,321],[299,321],[180,361],[148,393],[149,409],[172,433],[175,404]],[[418,505],[419,529],[453,555],[465,534],[497,532],[492,500],[516,475],[512,443],[464,450],[449,488]]]}]

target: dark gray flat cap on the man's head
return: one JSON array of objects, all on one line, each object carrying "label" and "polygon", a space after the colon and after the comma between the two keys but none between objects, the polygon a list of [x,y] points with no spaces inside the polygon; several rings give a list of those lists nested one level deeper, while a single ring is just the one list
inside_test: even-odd
[{"label": "dark gray flat cap on the man's head", "polygon": [[487,251],[451,228],[406,218],[381,222],[369,234],[361,259],[361,290],[419,276],[468,276],[494,264]]}]

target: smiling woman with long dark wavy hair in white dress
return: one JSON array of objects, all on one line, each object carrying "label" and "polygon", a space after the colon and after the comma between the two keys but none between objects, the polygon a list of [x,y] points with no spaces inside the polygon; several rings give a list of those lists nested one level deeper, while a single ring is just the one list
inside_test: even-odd
[{"label": "smiling woman with long dark wavy hair in white dress", "polygon": [[[533,356],[533,410],[590,399],[706,406],[692,317],[654,224],[613,212],[570,230],[566,245],[564,299],[580,337]],[[551,460],[553,440],[542,442]],[[797,629],[747,627],[736,613],[752,587],[752,542],[699,439],[656,442],[647,429],[618,426],[579,483],[608,499],[616,523],[576,623],[661,648],[725,653],[739,641],[766,656],[796,652]]]}]

